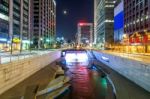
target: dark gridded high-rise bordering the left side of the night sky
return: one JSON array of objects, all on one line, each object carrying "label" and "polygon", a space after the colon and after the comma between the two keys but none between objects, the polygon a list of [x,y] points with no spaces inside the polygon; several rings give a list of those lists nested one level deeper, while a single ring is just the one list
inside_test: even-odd
[{"label": "dark gridded high-rise bordering the left side of the night sky", "polygon": [[34,0],[34,48],[49,48],[56,34],[55,0]]}]

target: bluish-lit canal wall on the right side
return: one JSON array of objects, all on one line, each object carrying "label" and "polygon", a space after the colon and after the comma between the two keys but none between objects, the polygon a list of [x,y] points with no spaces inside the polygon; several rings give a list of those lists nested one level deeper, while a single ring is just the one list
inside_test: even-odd
[{"label": "bluish-lit canal wall on the right side", "polygon": [[150,64],[93,51],[96,58],[150,92]]}]

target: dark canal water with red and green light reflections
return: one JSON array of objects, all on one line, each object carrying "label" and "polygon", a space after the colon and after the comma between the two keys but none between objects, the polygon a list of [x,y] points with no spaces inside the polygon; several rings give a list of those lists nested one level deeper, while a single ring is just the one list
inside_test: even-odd
[{"label": "dark canal water with red and green light reflections", "polygon": [[73,60],[66,63],[66,75],[71,78],[71,87],[57,99],[110,99],[110,88],[101,71],[90,66],[88,60]]}]

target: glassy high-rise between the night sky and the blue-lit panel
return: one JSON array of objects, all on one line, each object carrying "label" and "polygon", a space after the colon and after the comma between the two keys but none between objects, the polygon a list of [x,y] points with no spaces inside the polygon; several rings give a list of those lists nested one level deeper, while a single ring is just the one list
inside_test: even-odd
[{"label": "glassy high-rise between the night sky and the blue-lit panel", "polygon": [[96,45],[106,48],[114,42],[114,5],[116,0],[95,0],[94,32]]}]

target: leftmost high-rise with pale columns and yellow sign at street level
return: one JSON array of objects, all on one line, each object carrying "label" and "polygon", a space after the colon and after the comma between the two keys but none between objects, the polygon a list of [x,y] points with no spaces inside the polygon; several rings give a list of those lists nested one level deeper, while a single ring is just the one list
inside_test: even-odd
[{"label": "leftmost high-rise with pale columns and yellow sign at street level", "polygon": [[0,49],[28,49],[29,0],[0,0]]}]

